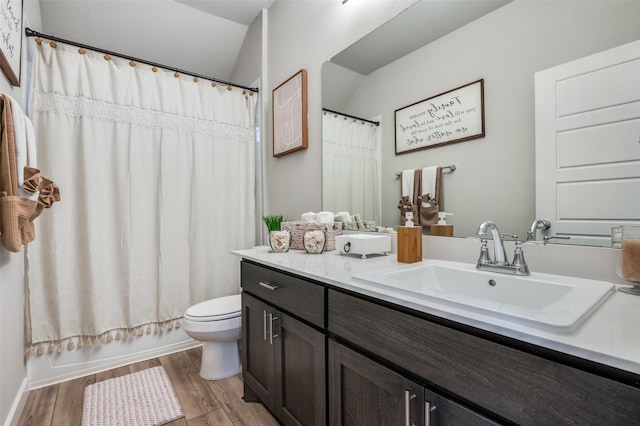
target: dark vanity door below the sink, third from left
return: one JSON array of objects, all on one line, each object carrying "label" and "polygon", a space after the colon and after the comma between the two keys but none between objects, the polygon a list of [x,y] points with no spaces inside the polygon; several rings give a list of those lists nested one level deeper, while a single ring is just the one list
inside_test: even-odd
[{"label": "dark vanity door below the sink, third from left", "polygon": [[423,425],[424,400],[418,384],[329,340],[330,425]]}]

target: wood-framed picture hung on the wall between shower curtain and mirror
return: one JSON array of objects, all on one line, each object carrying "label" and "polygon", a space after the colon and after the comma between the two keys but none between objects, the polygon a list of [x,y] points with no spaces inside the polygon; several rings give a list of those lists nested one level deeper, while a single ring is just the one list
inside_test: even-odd
[{"label": "wood-framed picture hung on the wall between shower curtain and mirror", "polygon": [[273,156],[307,148],[307,70],[273,89]]}]

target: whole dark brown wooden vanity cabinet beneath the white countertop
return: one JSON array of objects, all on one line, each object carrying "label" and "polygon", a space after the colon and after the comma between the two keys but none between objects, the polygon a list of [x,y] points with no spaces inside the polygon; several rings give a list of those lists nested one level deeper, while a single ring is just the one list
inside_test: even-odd
[{"label": "whole dark brown wooden vanity cabinet beneath the white countertop", "polygon": [[247,401],[284,425],[634,425],[640,376],[242,262]]}]

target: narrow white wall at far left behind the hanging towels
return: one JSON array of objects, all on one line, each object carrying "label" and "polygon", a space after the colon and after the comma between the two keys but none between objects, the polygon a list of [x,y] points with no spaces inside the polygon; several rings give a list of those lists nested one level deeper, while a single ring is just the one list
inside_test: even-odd
[{"label": "narrow white wall at far left behind the hanging towels", "polygon": [[[23,9],[24,22],[40,25],[37,0],[24,0]],[[25,59],[23,48],[23,70]],[[0,73],[0,91],[22,104],[23,88],[12,87],[4,73]],[[24,278],[24,250],[11,253],[0,247],[0,424],[17,422],[15,417],[20,414],[28,386],[24,357]]]}]

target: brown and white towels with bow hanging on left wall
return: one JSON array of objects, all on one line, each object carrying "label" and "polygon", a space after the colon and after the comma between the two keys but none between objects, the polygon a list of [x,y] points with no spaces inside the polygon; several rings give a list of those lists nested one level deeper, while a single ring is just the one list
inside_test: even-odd
[{"label": "brown and white towels with bow hanging on left wall", "polygon": [[60,200],[53,181],[35,168],[33,128],[18,103],[2,94],[0,116],[0,239],[9,251],[35,239],[33,221]]}]

